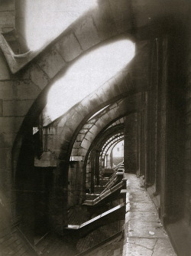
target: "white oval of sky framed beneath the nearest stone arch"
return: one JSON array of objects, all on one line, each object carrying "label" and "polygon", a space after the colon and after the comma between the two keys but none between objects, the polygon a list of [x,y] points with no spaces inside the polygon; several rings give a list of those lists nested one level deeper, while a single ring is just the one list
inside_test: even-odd
[{"label": "white oval of sky framed beneath the nearest stone arch", "polygon": [[134,43],[121,39],[104,44],[79,58],[50,88],[47,115],[53,121],[66,113],[121,71],[133,57]]}]

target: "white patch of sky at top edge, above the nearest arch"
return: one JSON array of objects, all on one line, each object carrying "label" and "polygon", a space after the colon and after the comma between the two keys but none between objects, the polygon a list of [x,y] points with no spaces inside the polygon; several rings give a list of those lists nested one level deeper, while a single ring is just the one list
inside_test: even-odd
[{"label": "white patch of sky at top edge, above the nearest arch", "polygon": [[97,6],[97,0],[24,0],[25,38],[28,48],[39,50],[57,38],[73,21],[89,8]]}]

